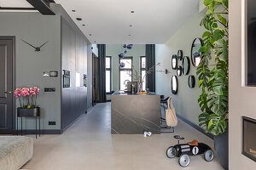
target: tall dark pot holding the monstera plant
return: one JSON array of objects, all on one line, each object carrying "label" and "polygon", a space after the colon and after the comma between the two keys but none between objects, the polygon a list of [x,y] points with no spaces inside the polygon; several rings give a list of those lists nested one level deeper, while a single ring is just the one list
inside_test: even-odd
[{"label": "tall dark pot holding the monstera plant", "polygon": [[214,148],[218,162],[224,169],[229,169],[229,129],[214,137]]}]

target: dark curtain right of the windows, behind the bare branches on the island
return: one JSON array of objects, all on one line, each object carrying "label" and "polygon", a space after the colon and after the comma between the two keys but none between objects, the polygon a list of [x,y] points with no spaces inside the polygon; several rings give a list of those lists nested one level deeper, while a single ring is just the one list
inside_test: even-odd
[{"label": "dark curtain right of the windows, behind the bare branches on the island", "polygon": [[[146,70],[155,65],[155,45],[146,44]],[[146,88],[149,88],[150,92],[155,92],[155,72],[147,75]]]}]

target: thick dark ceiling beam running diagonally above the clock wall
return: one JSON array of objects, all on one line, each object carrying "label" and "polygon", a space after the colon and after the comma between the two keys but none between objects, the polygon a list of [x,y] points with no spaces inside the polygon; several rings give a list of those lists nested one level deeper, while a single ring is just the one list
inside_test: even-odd
[{"label": "thick dark ceiling beam running diagonally above the clock wall", "polygon": [[26,0],[34,8],[36,8],[41,14],[45,15],[55,15],[55,13],[49,8],[49,3],[52,1],[49,0]]}]

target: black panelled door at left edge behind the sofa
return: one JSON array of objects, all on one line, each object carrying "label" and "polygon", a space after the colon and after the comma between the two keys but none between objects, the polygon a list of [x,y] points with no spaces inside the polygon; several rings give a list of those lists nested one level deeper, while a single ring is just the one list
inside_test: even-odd
[{"label": "black panelled door at left edge behind the sofa", "polygon": [[0,37],[0,133],[15,129],[14,37]]}]

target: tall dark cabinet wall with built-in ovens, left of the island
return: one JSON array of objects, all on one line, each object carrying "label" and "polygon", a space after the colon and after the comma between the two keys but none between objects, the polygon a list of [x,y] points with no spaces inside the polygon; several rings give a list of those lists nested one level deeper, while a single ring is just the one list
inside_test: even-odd
[{"label": "tall dark cabinet wall with built-in ovens, left of the island", "polygon": [[[61,129],[87,111],[87,46],[81,32],[61,17]],[[63,88],[63,70],[70,71],[70,88]]]}]

